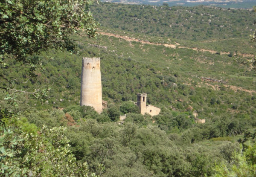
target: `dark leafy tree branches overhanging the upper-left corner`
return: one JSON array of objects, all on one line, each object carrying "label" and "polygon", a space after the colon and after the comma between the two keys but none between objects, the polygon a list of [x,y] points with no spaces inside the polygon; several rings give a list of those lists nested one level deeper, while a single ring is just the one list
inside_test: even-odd
[{"label": "dark leafy tree branches overhanging the upper-left corner", "polygon": [[[25,92],[9,87],[36,78],[35,70],[42,67],[36,55],[49,49],[76,53],[76,40],[70,35],[78,29],[90,38],[96,36],[89,4],[90,0],[1,0],[0,88]],[[41,98],[38,91],[28,93]]]}]

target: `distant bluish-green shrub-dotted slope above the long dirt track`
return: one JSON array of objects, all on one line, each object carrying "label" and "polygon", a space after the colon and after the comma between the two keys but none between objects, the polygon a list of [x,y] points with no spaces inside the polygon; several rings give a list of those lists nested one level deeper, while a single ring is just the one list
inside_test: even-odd
[{"label": "distant bluish-green shrub-dotted slope above the long dirt track", "polygon": [[[91,9],[96,20],[111,29],[192,41],[223,39],[227,36],[247,38],[250,29],[253,29],[253,19],[247,18],[253,12],[246,10],[111,3],[94,5]],[[250,29],[244,26],[250,26]]]}]

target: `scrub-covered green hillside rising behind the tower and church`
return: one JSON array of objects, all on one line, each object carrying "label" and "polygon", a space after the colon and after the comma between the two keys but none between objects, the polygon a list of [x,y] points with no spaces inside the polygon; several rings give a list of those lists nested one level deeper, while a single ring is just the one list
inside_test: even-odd
[{"label": "scrub-covered green hillside rising behind the tower and church", "polygon": [[[177,12],[180,13],[176,18],[169,18],[171,21],[178,20],[180,17],[193,13],[195,19],[215,19],[212,14],[218,14],[220,17],[230,18],[230,23],[227,24],[227,28],[223,29],[224,32],[220,32],[218,25],[212,25],[211,36],[204,39],[207,36],[207,32],[200,32],[198,40],[193,40],[193,35],[198,34],[196,29],[205,29],[206,26],[211,26],[209,22],[198,23],[192,28],[184,28],[184,26],[192,25],[192,21],[184,21],[180,26],[175,27],[183,30],[183,33],[190,33],[190,35],[184,35],[183,33],[173,31],[172,28],[166,29],[166,25],[160,22],[160,11],[166,10],[159,7],[156,11],[150,6],[142,9],[142,6],[131,5],[116,5],[104,3],[93,6],[93,9],[97,9],[96,19],[102,19],[99,23],[102,23],[104,27],[99,29],[101,34],[98,39],[86,39],[81,36],[74,36],[79,39],[79,55],[70,55],[63,52],[49,52],[47,55],[51,58],[45,58],[41,56],[45,70],[38,73],[37,81],[32,81],[27,87],[31,89],[35,87],[49,86],[51,90],[49,92],[48,101],[41,104],[34,99],[27,100],[26,97],[22,97],[20,101],[28,101],[30,106],[37,109],[49,109],[52,107],[67,107],[72,104],[79,104],[80,99],[80,76],[81,76],[81,58],[82,57],[100,57],[101,69],[102,69],[102,92],[103,99],[109,102],[111,107],[113,105],[120,105],[124,101],[136,101],[136,93],[148,93],[148,104],[153,104],[161,108],[165,108],[169,111],[174,111],[172,114],[182,114],[184,116],[190,116],[189,120],[192,122],[189,126],[194,126],[195,116],[199,119],[206,119],[210,125],[217,125],[218,121],[221,121],[224,117],[229,122],[233,119],[239,121],[239,124],[243,124],[242,127],[236,127],[239,131],[243,132],[247,128],[255,125],[255,73],[245,65],[241,66],[233,61],[236,52],[242,53],[242,58],[251,57],[253,47],[247,41],[250,34],[249,29],[253,29],[250,24],[251,15],[247,10],[235,10],[231,12],[228,10],[209,9],[208,7],[194,7],[184,8],[180,7],[177,10],[168,10],[167,16],[175,17]],[[111,10],[110,10],[111,9]],[[150,13],[151,16],[155,15],[155,23],[151,23],[153,26],[158,26],[159,33],[131,32],[132,28],[145,28],[147,30],[148,22],[137,22],[134,17],[129,17],[124,14],[124,19],[129,20],[127,23],[127,29],[122,30],[119,28],[111,29],[112,24],[120,24],[125,20],[120,20],[122,15],[115,18],[115,11],[127,11],[127,13],[143,14],[140,18],[147,16]],[[204,11],[207,12],[207,17],[201,15]],[[131,11],[131,12],[129,12]],[[198,11],[198,12],[194,12]],[[100,18],[101,15],[109,14],[108,18]],[[218,13],[217,13],[218,12]],[[98,15],[98,16],[97,16]],[[112,16],[111,16],[112,15]],[[235,16],[238,15],[241,23],[244,25],[238,25],[235,20]],[[135,14],[136,16],[136,14]],[[150,17],[151,17],[150,16]],[[219,18],[218,23],[224,23],[223,18]],[[222,19],[222,21],[221,21]],[[247,20],[248,19],[248,20]],[[110,23],[111,20],[112,23]],[[202,20],[201,20],[202,21]],[[205,21],[205,20],[204,20]],[[212,20],[213,21],[213,20]],[[108,26],[107,26],[108,24]],[[160,25],[161,24],[161,25]],[[225,23],[226,24],[226,23]],[[143,27],[144,26],[144,27]],[[248,28],[244,28],[249,26]],[[168,27],[169,28],[169,27]],[[229,29],[233,29],[232,31]],[[240,31],[241,30],[241,31]],[[164,34],[172,33],[170,37],[160,34],[160,31]],[[236,31],[234,33],[234,31]],[[237,35],[237,32],[242,32],[243,35]],[[226,35],[227,32],[227,35]],[[226,36],[227,38],[223,39]],[[216,37],[215,37],[216,36]],[[200,39],[200,40],[199,40]],[[237,43],[234,43],[237,41]],[[233,44],[233,45],[228,45]],[[233,52],[236,51],[236,52]],[[241,51],[241,52],[240,52]],[[19,68],[16,69],[17,73]],[[14,74],[15,77],[15,73]],[[217,79],[221,82],[209,81]],[[23,77],[26,81],[26,76]],[[26,104],[23,104],[25,106]],[[172,119],[166,119],[162,121],[161,116],[153,118],[155,123],[163,125],[164,130],[167,132],[172,131],[177,125],[173,125]],[[178,126],[180,127],[180,125]],[[186,127],[189,128],[189,127]],[[185,128],[185,129],[186,129]],[[228,132],[231,130],[227,130]],[[222,136],[226,136],[226,133]],[[208,137],[209,135],[206,135]]]}]

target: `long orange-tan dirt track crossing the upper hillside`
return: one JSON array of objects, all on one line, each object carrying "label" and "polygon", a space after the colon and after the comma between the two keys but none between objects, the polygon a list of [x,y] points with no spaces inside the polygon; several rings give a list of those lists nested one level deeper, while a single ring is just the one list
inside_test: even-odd
[{"label": "long orange-tan dirt track crossing the upper hillside", "polygon": [[[116,34],[113,34],[113,33],[108,33],[108,32],[98,32],[99,34],[101,35],[107,35],[107,36],[113,36],[115,38],[121,38],[121,39],[124,39],[125,41],[135,41],[135,42],[140,42],[141,44],[149,44],[149,45],[156,45],[156,46],[166,46],[166,47],[170,47],[170,48],[173,48],[173,49],[176,49],[176,48],[185,48],[185,49],[192,49],[192,50],[195,50],[195,51],[198,51],[198,52],[210,52],[212,54],[216,54],[217,51],[215,50],[209,50],[209,49],[198,49],[198,48],[190,48],[190,47],[186,47],[186,46],[179,46],[180,44],[178,44],[177,42],[175,42],[175,44],[161,44],[161,43],[153,43],[153,42],[149,42],[149,41],[143,41],[141,39],[136,39],[136,38],[131,38],[131,37],[128,37],[128,36],[122,36],[122,35],[116,35]],[[228,55],[230,54],[229,52],[220,52],[219,53],[220,55]],[[236,55],[236,54],[234,54]],[[243,57],[254,57],[254,55],[252,54],[239,54]]]}]

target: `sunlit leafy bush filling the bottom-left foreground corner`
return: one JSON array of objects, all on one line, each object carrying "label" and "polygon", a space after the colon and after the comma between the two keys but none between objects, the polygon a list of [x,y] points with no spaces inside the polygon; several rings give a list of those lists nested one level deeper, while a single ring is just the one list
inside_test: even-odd
[{"label": "sunlit leafy bush filling the bottom-left foreground corner", "polygon": [[1,175],[88,177],[87,163],[76,162],[69,150],[69,141],[64,136],[65,130],[63,127],[43,127],[38,135],[33,135],[20,129],[2,128]]}]

